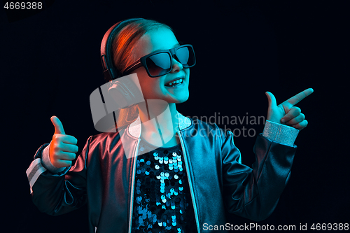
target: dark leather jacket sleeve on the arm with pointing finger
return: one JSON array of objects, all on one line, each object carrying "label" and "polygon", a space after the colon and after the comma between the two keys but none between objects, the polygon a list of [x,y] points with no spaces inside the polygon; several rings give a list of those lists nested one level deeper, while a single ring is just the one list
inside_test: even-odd
[{"label": "dark leather jacket sleeve on the arm with pointing finger", "polygon": [[[274,211],[288,182],[297,148],[293,145],[294,140],[293,146],[279,140],[283,139],[283,129],[286,128],[281,125],[278,127],[279,131],[275,131],[274,134],[264,129],[264,133],[258,135],[253,148],[256,160],[252,169],[241,164],[241,155],[233,143],[232,132],[226,134],[222,146],[223,199],[230,213],[260,221],[265,220]],[[276,138],[276,134],[279,134],[279,139]],[[290,143],[290,139],[288,140]]]}]

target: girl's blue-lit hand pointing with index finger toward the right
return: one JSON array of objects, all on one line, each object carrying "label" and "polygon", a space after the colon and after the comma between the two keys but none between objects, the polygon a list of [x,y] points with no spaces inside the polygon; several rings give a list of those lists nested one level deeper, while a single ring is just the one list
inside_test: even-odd
[{"label": "girl's blue-lit hand pointing with index finger toward the right", "polygon": [[308,97],[312,92],[314,92],[312,88],[304,90],[299,94],[295,94],[295,96],[287,99],[278,106],[274,94],[271,92],[265,92],[269,101],[267,120],[283,125],[289,125],[299,130],[304,129],[304,127],[307,127],[307,120],[304,120],[305,115],[301,113],[300,108],[294,105],[302,101],[305,97]]}]

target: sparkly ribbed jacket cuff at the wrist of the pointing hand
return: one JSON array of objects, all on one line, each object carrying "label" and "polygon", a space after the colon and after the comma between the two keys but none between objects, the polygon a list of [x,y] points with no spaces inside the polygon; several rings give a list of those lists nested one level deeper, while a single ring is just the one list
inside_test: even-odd
[{"label": "sparkly ribbed jacket cuff at the wrist of the pointing hand", "polygon": [[266,120],[265,127],[262,132],[262,136],[276,141],[277,143],[286,144],[288,146],[293,146],[294,141],[299,134],[299,130],[288,125],[281,125],[276,122]]}]

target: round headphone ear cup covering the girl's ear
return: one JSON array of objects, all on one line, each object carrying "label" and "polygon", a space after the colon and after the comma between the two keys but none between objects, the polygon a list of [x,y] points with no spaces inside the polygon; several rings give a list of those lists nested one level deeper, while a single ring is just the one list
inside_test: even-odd
[{"label": "round headphone ear cup covering the girl's ear", "polygon": [[118,78],[109,87],[108,92],[120,108],[127,108],[144,101],[139,87],[129,78]]}]

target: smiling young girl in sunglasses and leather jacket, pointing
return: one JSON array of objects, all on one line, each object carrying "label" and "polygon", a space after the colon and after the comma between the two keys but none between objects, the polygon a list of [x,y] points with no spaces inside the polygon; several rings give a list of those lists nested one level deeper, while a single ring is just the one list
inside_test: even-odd
[{"label": "smiling young girl in sunglasses and leather jacket, pointing", "polygon": [[214,225],[225,232],[225,212],[267,218],[288,181],[297,133],[307,126],[293,105],[313,90],[279,106],[266,92],[267,121],[251,169],[241,164],[232,132],[176,111],[189,97],[192,45],[180,45],[170,27],[153,20],[125,20],[114,30],[111,88],[137,75],[145,101],[119,111],[117,132],[90,136],[73,166],[77,140],[51,118],[52,141],[27,169],[38,209],[57,216],[87,204],[90,232],[103,233],[211,232]]}]

